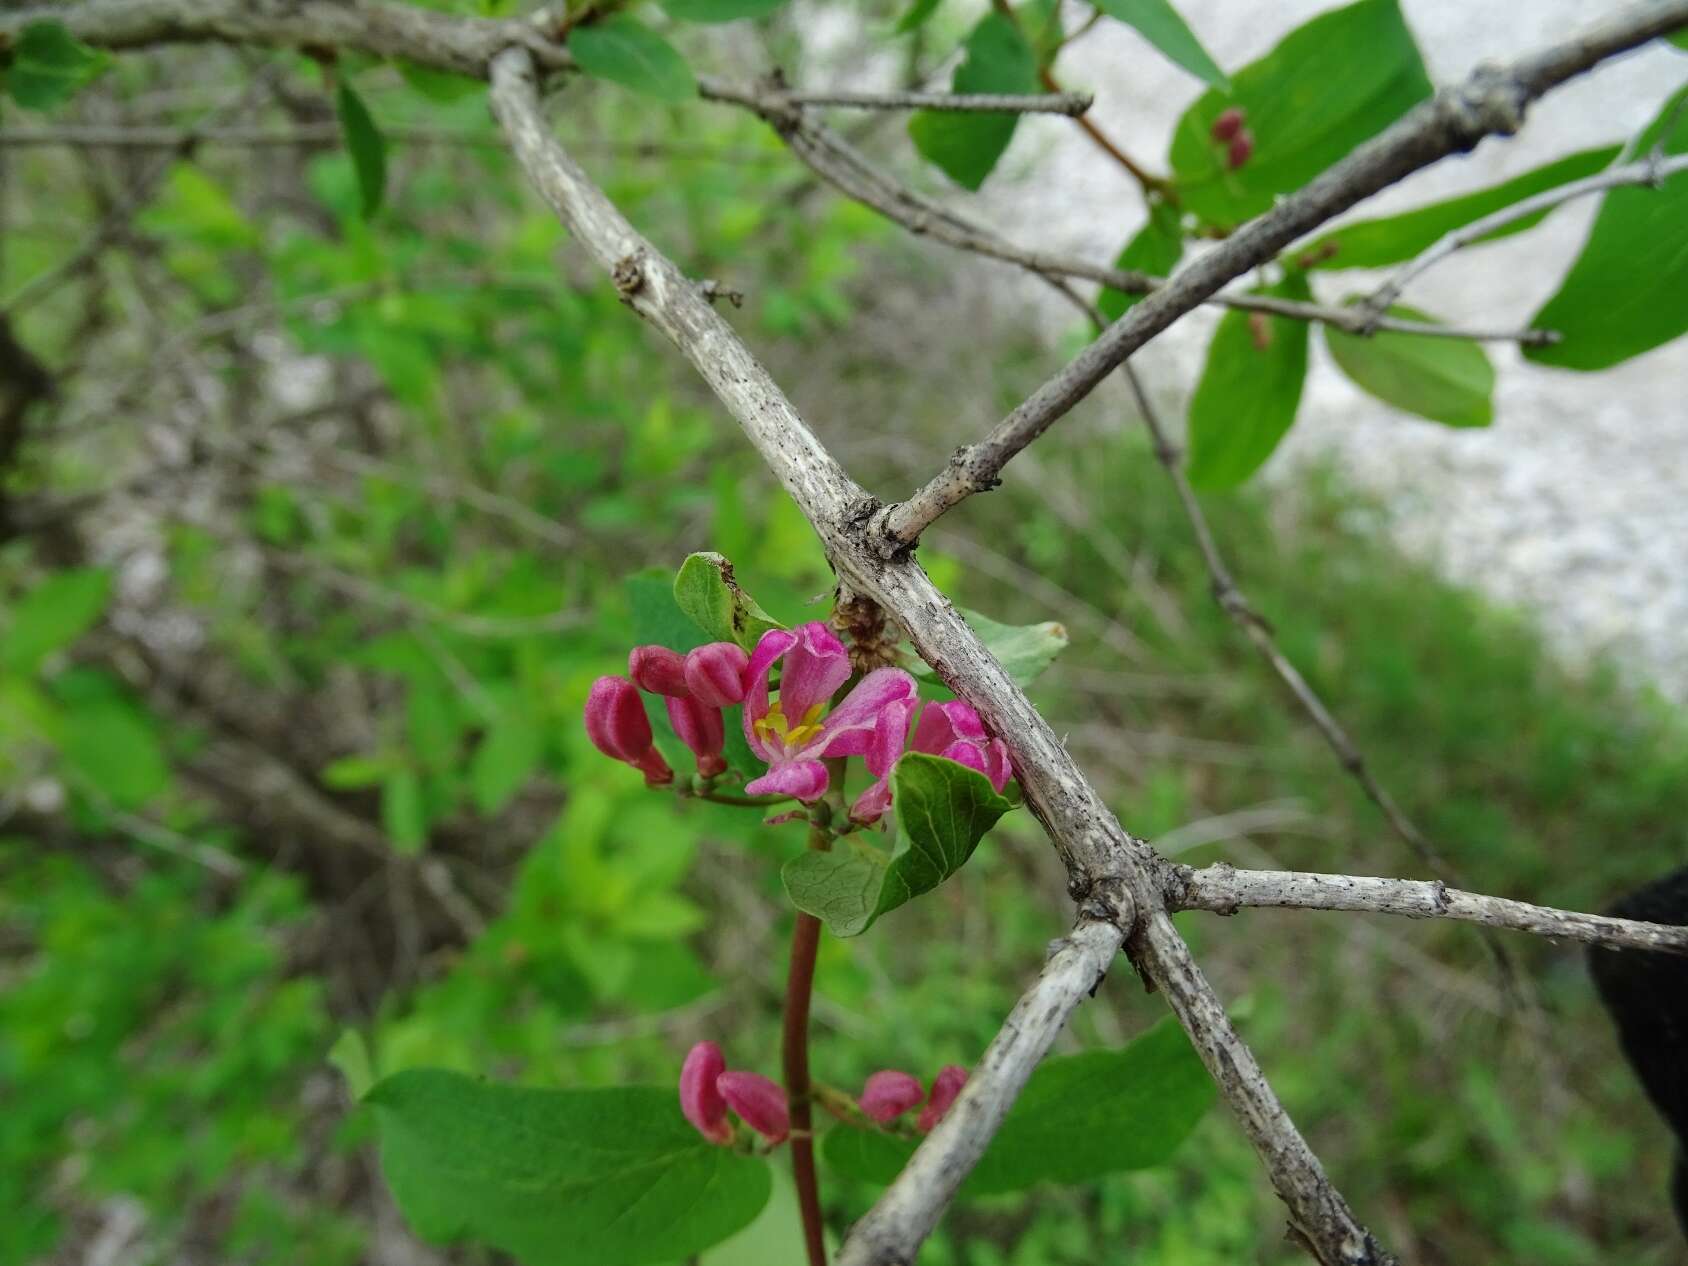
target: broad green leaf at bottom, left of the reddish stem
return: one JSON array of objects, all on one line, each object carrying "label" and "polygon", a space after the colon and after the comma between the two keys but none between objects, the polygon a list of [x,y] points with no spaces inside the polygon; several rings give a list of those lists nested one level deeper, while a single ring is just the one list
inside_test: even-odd
[{"label": "broad green leaf at bottom, left of the reddish stem", "polygon": [[704,1139],[674,1087],[540,1090],[417,1069],[365,1102],[410,1225],[523,1266],[680,1261],[768,1202],[766,1161]]}]

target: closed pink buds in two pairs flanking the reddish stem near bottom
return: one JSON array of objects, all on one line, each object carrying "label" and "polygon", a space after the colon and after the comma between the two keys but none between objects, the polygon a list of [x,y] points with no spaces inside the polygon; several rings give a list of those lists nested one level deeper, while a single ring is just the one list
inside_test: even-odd
[{"label": "closed pink buds in two pairs flanking the reddish stem near bottom", "polygon": [[[930,1092],[906,1072],[885,1069],[868,1079],[856,1106],[869,1119],[888,1126],[925,1101],[915,1129],[927,1134],[950,1111],[966,1084],[967,1070],[957,1063],[939,1070]],[[785,1143],[792,1133],[792,1112],[780,1084],[758,1072],[728,1069],[714,1041],[699,1041],[680,1065],[680,1111],[699,1134],[722,1146],[738,1136],[729,1114],[736,1114],[770,1146]]]}]

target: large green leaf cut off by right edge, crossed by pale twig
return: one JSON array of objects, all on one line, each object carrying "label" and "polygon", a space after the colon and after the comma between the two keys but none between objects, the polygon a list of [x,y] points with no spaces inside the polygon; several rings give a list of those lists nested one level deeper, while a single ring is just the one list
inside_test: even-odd
[{"label": "large green leaf cut off by right edge, crossed by pale twig", "polygon": [[[1632,152],[1688,152],[1688,88],[1636,138]],[[1664,130],[1669,128],[1669,135]],[[1556,329],[1550,348],[1526,348],[1538,365],[1605,370],[1688,333],[1688,172],[1658,189],[1612,189],[1595,214],[1588,241],[1560,289],[1531,326]]]}]

